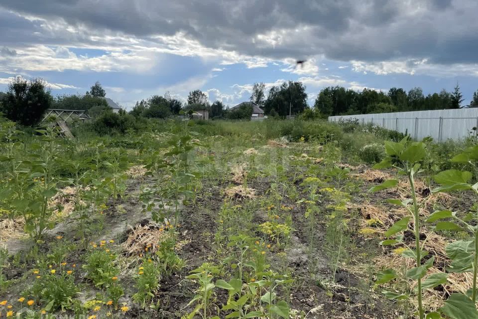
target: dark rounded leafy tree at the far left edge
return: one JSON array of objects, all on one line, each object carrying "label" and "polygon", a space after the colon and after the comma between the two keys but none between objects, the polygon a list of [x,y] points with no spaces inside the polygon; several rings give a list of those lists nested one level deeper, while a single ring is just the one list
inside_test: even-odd
[{"label": "dark rounded leafy tree at the far left edge", "polygon": [[0,112],[13,122],[24,126],[38,124],[53,98],[42,79],[25,80],[16,77],[8,84]]}]

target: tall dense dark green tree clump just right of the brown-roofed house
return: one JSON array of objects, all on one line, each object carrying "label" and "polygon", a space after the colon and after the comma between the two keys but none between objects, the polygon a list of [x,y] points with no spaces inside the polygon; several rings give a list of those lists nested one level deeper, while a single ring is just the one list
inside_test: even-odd
[{"label": "tall dense dark green tree clump just right of the brown-roofed house", "polygon": [[302,82],[286,82],[280,87],[272,87],[264,103],[264,112],[275,110],[279,116],[299,114],[308,107],[306,87]]}]

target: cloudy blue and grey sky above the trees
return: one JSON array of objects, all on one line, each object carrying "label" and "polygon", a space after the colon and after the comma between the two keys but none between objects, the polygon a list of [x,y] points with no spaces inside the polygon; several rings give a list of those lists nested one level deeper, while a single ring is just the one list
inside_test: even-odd
[{"label": "cloudy blue and grey sky above the trees", "polygon": [[[275,2],[275,3],[273,3]],[[1,0],[0,91],[42,77],[53,94],[100,81],[130,108],[201,89],[235,105],[254,82],[478,89],[477,0]],[[296,59],[307,59],[295,68]]]}]

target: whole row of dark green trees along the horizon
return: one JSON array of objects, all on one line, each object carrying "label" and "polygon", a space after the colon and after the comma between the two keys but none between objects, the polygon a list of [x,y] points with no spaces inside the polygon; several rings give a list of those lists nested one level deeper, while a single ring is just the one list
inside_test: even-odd
[{"label": "whole row of dark green trees along the horizon", "polygon": [[[17,77],[8,84],[6,93],[0,92],[0,113],[24,126],[38,124],[45,110],[51,108],[86,110],[91,117],[96,118],[105,112],[113,113],[105,97],[106,91],[100,82],[96,82],[85,94],[53,97],[42,79],[26,80]],[[355,91],[342,86],[330,86],[319,92],[312,108],[308,106],[307,99],[306,86],[302,82],[288,81],[271,87],[267,96],[265,84],[255,83],[249,101],[269,117],[278,118],[298,114],[303,114],[305,118],[327,118],[346,114],[458,109],[464,102],[458,85],[453,92],[443,89],[427,96],[421,88],[413,88],[407,92],[394,87],[383,92],[367,88]],[[473,94],[469,107],[478,107],[478,90]],[[163,96],[153,95],[137,101],[128,115],[136,119],[164,119],[198,110],[208,110],[212,119],[250,119],[252,105],[243,104],[240,108],[229,109],[219,100],[210,103],[208,96],[201,90],[189,92],[186,103],[182,103],[166,92]],[[122,112],[119,116],[124,115],[125,112]],[[109,117],[107,120],[113,121],[112,118],[117,116]],[[121,119],[115,119],[119,120]]]}]

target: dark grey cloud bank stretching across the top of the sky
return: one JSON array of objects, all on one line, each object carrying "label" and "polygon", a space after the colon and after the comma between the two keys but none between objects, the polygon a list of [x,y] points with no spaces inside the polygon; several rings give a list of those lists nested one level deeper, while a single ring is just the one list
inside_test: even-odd
[{"label": "dark grey cloud bank stretching across the top of the sky", "polygon": [[206,47],[269,58],[324,54],[345,61],[478,63],[476,0],[3,0],[0,5],[141,38],[181,31]]}]

